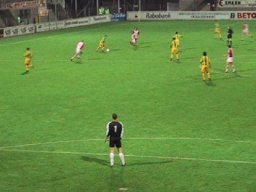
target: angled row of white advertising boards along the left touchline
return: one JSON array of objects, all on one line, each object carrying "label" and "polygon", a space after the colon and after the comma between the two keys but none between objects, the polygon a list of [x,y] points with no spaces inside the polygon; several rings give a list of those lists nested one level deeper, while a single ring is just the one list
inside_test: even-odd
[{"label": "angled row of white advertising boards along the left touchline", "polygon": [[110,15],[83,17],[80,19],[67,19],[54,22],[43,22],[39,24],[29,24],[24,26],[14,26],[10,28],[0,29],[3,33],[1,37],[26,35],[31,33],[40,33],[44,31],[54,31],[58,29],[74,28],[78,26],[85,26],[91,24],[97,24],[101,22],[110,22]]}]

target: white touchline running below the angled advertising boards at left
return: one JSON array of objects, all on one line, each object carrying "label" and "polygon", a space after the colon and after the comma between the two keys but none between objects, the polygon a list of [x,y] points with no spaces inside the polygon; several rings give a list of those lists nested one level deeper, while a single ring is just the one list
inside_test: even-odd
[{"label": "white touchline running below the angled advertising boards at left", "polygon": [[[124,23],[124,24],[117,24],[115,26],[106,26],[104,27],[105,28],[115,28],[116,26],[124,26],[126,24],[129,24],[128,22],[127,23]],[[66,36],[66,35],[73,35],[73,34],[76,34],[76,33],[86,33],[86,32],[89,32],[89,31],[95,31],[95,30],[99,30],[100,28],[98,29],[88,29],[88,30],[84,30],[84,31],[74,31],[74,32],[70,32],[70,33],[65,33],[65,34],[62,34],[62,35],[52,35],[52,36],[45,36],[45,37],[42,37],[42,38],[35,38],[35,39],[31,39],[31,40],[25,40],[25,41],[19,41],[19,42],[13,42],[13,43],[10,43],[10,44],[3,44],[3,45],[0,45],[0,47],[4,47],[6,45],[16,45],[16,44],[22,44],[22,43],[26,43],[26,42],[35,42],[37,40],[44,40],[44,39],[47,39],[47,38],[54,38],[54,37],[59,37],[59,36]],[[34,33],[35,34],[35,33]]]}]

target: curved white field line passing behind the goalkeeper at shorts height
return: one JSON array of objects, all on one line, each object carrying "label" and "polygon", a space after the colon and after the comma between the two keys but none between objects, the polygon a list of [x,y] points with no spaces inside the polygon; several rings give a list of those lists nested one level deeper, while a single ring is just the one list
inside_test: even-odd
[{"label": "curved white field line passing behind the goalkeeper at shorts height", "polygon": [[[241,141],[241,140],[221,140],[221,139],[212,139],[212,138],[123,138],[122,140],[201,140],[201,141],[221,141],[221,142],[232,142],[232,143],[255,143],[256,141]],[[88,139],[88,140],[67,140],[67,141],[51,141],[46,143],[31,143],[25,145],[12,145],[8,147],[0,147],[0,149],[4,148],[12,148],[12,147],[27,147],[34,145],[48,145],[54,143],[71,143],[71,142],[80,142],[80,141],[104,141],[104,139]]]}]

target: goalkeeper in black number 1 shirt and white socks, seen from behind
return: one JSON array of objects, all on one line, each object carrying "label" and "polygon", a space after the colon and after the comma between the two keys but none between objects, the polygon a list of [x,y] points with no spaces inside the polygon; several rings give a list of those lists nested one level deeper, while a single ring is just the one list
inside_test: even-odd
[{"label": "goalkeeper in black number 1 shirt and white socks, seen from behind", "polygon": [[122,143],[121,139],[124,134],[124,125],[121,122],[118,122],[116,113],[112,115],[113,121],[107,124],[107,133],[105,138],[105,143],[109,139],[110,147],[110,166],[114,166],[114,157],[115,157],[115,147],[118,149],[120,160],[122,161],[122,166],[125,166],[124,154],[122,152]]}]

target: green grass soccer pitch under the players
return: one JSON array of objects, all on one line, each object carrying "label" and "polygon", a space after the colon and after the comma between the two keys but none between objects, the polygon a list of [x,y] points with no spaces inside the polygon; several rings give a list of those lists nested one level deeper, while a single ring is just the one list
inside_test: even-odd
[{"label": "green grass soccer pitch under the players", "polygon": [[[0,40],[0,191],[256,191],[256,42],[240,40],[241,21],[220,24],[224,41],[214,21],[110,22]],[[236,74],[223,73],[228,25]],[[170,61],[176,31],[180,62]],[[95,52],[104,35],[110,51]],[[80,40],[82,61],[71,62]],[[26,47],[35,68],[22,75]],[[203,51],[212,81],[202,81]],[[125,167],[116,153],[109,168],[112,113],[125,126]]]}]

